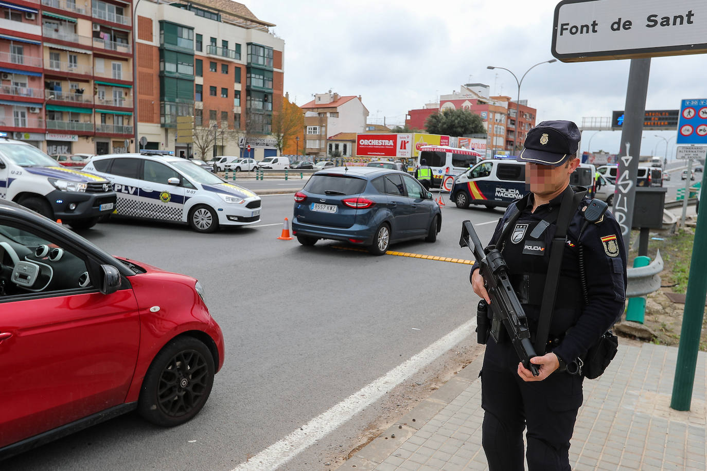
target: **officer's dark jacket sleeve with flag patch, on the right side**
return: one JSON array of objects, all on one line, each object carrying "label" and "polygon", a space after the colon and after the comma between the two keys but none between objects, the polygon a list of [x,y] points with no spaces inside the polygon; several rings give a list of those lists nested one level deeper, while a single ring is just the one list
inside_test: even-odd
[{"label": "officer's dark jacket sleeve with flag patch, on the right side", "polygon": [[607,213],[603,222],[590,224],[579,242],[589,304],[554,350],[566,362],[583,356],[624,313],[626,302],[626,251],[614,217]]}]

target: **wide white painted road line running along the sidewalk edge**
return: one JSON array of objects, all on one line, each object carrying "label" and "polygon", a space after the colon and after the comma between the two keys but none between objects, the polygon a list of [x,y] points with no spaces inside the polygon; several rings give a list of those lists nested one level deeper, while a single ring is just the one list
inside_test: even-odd
[{"label": "wide white painted road line running along the sidewalk edge", "polygon": [[278,467],[288,463],[288,461],[304,451],[305,448],[327,436],[327,434],[337,429],[351,417],[354,417],[358,412],[382,398],[385,393],[405,381],[416,371],[430,364],[441,354],[464,340],[465,337],[471,335],[476,324],[476,317],[472,317],[467,323],[452,330],[452,332],[440,338],[425,350],[342,400],[341,403],[334,405],[327,412],[310,420],[301,428],[296,429],[284,439],[273,443],[249,460],[240,463],[232,471],[276,470]]}]

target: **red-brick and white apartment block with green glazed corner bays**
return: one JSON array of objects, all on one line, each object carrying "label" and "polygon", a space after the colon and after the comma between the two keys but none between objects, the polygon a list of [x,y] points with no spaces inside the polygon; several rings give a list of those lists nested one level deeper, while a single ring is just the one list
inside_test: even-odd
[{"label": "red-brick and white apartment block with green glazed corner bays", "polygon": [[[177,117],[194,117],[214,155],[276,155],[271,122],[283,96],[284,41],[230,0],[144,0],[137,13],[139,137],[144,148],[194,154]],[[159,64],[159,67],[156,67]],[[182,131],[185,132],[185,131]]]}]

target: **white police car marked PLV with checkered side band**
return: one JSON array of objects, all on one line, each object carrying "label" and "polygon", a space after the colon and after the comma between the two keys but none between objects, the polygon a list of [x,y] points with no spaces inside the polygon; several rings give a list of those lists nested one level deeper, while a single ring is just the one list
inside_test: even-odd
[{"label": "white police car marked PLV with checkered side band", "polygon": [[180,157],[98,155],[83,169],[112,182],[113,215],[187,223],[197,232],[260,220],[259,196]]}]

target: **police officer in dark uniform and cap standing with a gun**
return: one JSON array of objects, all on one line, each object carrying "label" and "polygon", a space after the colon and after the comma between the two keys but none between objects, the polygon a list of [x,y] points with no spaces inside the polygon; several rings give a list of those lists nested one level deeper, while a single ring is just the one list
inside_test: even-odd
[{"label": "police officer in dark uniform and cap standing with a gun", "polygon": [[[526,162],[530,193],[511,203],[491,238],[508,264],[532,342],[561,201],[566,191],[574,191],[569,179],[580,163],[579,141],[580,132],[571,121],[543,121],[528,131],[517,160]],[[624,311],[626,254],[621,229],[608,211],[602,220],[587,222],[583,211],[590,200],[575,196],[573,203],[577,201],[561,258],[547,353],[530,360],[539,366],[539,376],[522,366],[509,341],[496,343],[489,336],[486,345],[481,370],[482,444],[492,471],[524,469],[526,427],[528,470],[570,469],[570,439],[583,400],[578,366]],[[511,217],[517,219],[503,231]],[[502,232],[507,235],[499,240]],[[477,266],[472,267],[471,281],[474,292],[491,302]]]}]

